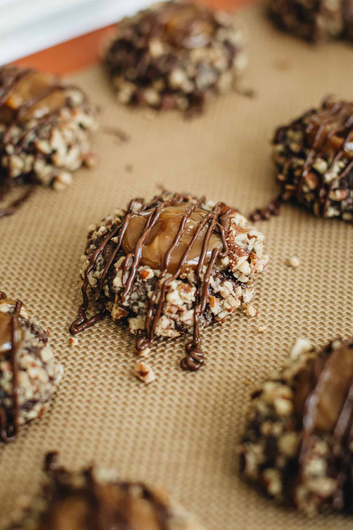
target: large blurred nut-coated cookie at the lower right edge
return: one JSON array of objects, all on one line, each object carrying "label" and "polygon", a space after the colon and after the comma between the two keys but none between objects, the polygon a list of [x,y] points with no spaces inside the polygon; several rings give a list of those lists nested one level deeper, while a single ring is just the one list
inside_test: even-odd
[{"label": "large blurred nut-coated cookie at the lower right edge", "polygon": [[308,514],[351,511],[353,339],[296,342],[283,372],[252,396],[242,472]]}]

